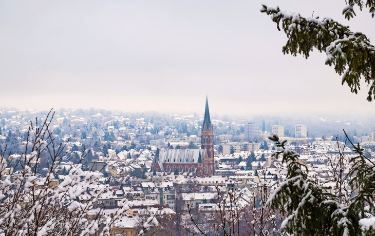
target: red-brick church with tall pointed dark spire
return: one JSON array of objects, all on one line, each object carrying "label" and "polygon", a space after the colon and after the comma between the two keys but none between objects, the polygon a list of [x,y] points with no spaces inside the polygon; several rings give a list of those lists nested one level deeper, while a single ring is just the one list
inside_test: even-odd
[{"label": "red-brick church with tall pointed dark spire", "polygon": [[206,96],[204,119],[201,130],[200,149],[167,149],[155,152],[152,171],[173,173],[190,176],[215,174],[214,161],[214,130],[210,118],[209,101]]}]

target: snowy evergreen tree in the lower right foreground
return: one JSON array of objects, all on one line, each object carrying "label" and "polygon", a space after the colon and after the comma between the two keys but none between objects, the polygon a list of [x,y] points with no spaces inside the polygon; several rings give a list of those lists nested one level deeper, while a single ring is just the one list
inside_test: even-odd
[{"label": "snowy evergreen tree in the lower right foreground", "polygon": [[[346,133],[345,135],[347,136]],[[277,147],[282,148],[274,153],[275,158],[282,154],[283,163],[288,165],[287,176],[281,187],[273,193],[266,204],[273,209],[279,209],[285,217],[282,229],[284,233],[373,235],[375,163],[366,158],[359,144],[354,145],[348,139],[357,156],[350,159],[352,167],[344,176],[342,173],[347,168],[347,161],[344,160],[344,153],[340,152],[340,158],[336,160],[332,170],[332,179],[336,187],[331,193],[308,177],[307,167],[298,163],[298,153],[286,149],[285,141],[281,143],[276,135],[269,139],[274,141]],[[333,164],[331,165],[333,167]],[[353,193],[356,193],[354,197]]]}]

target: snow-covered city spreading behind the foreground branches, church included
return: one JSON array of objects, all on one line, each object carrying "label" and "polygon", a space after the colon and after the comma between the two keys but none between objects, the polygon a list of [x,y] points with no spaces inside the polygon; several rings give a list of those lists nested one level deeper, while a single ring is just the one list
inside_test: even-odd
[{"label": "snow-covered city spreading behind the foreground branches, church included", "polygon": [[[348,178],[352,169],[349,161],[355,156],[347,137],[308,137],[306,125],[296,124],[294,132],[286,131],[283,125],[273,125],[267,131],[264,120],[257,124],[229,117],[224,117],[229,121],[211,119],[208,97],[203,115],[61,109],[48,120],[51,113],[47,117],[46,113],[3,112],[0,142],[3,160],[8,161],[2,165],[3,186],[7,181],[12,186],[19,178],[31,179],[20,195],[27,204],[34,194],[30,188],[37,191],[47,185],[55,191],[71,175],[77,174],[80,182],[87,181],[87,176],[97,176],[95,183],[82,188],[70,201],[84,203],[100,192],[92,208],[85,212],[87,219],[103,213],[100,227],[105,227],[106,219],[114,218],[124,201],[131,203],[132,208],[124,210],[114,222],[111,234],[138,235],[143,230],[144,217],[154,217],[171,233],[197,233],[191,223],[192,213],[204,215],[207,219],[201,227],[210,231],[213,212],[220,210],[220,204],[224,210],[236,207],[243,212],[261,207],[264,194],[269,198],[288,174],[288,163],[282,156],[273,155],[282,149],[269,139],[272,135],[285,140],[285,148],[298,154],[297,162],[306,167],[308,178],[331,193],[339,191],[333,181],[337,171]],[[34,116],[40,118],[32,127]],[[51,131],[48,145],[52,145],[52,140],[60,144],[56,155],[61,157],[59,160],[41,149],[36,148],[35,152],[26,147],[35,145],[30,139],[37,135],[35,130],[47,125]],[[375,160],[375,132],[350,137],[365,148],[368,160]],[[25,175],[27,161],[34,170]],[[77,168],[80,171],[74,172]],[[11,203],[12,194],[4,193],[2,205],[6,206]],[[230,199],[235,205],[228,203]],[[246,220],[237,220],[242,225],[240,233],[254,231]],[[279,225],[282,218],[274,220]],[[185,228],[188,230],[183,232]],[[147,234],[158,230],[151,228]]]}]

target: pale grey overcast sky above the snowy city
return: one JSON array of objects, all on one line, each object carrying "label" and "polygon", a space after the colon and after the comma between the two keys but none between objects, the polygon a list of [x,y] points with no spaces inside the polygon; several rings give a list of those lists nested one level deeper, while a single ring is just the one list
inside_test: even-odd
[{"label": "pale grey overcast sky above the snowy city", "polygon": [[344,0],[1,1],[0,107],[202,113],[208,93],[218,114],[374,113],[325,53],[284,55],[262,3],[375,38],[368,10],[348,22]]}]

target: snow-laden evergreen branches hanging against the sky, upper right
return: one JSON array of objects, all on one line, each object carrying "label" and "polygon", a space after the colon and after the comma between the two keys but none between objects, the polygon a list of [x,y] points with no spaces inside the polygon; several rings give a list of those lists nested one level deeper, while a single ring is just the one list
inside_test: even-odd
[{"label": "snow-laden evergreen branches hanging against the sky, upper right", "polygon": [[[355,15],[355,5],[360,10],[363,8],[363,1],[360,0],[348,0],[346,3],[343,15],[348,20]],[[369,7],[373,17],[375,1],[367,0],[365,6]],[[283,47],[284,54],[302,54],[308,58],[314,48],[319,52],[326,52],[325,63],[334,65],[335,72],[342,75],[342,85],[346,83],[351,92],[357,93],[360,90],[360,78],[364,78],[368,88],[367,101],[372,101],[372,97],[375,97],[375,47],[365,34],[352,32],[348,26],[328,17],[305,18],[300,14],[266,5],[262,5],[260,11],[271,15],[279,31],[279,24],[282,23],[283,31],[288,37]]]}]

